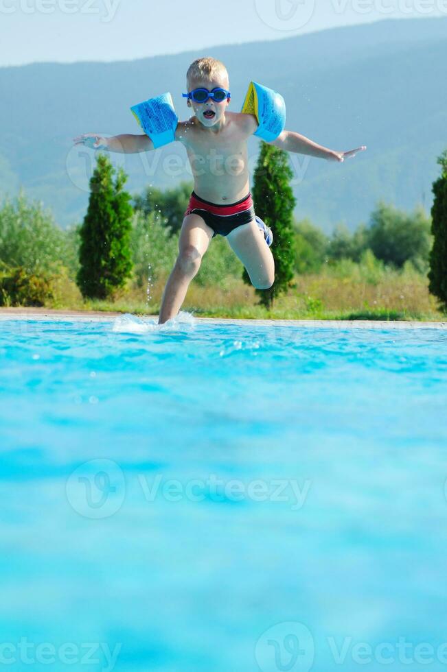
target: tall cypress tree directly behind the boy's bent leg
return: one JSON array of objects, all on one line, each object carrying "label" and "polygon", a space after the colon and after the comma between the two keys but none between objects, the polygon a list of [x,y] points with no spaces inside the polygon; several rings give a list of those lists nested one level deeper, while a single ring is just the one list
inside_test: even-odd
[{"label": "tall cypress tree directly behind the boy's bent leg", "polygon": [[[256,289],[256,293],[260,296],[260,303],[268,309],[271,309],[276,296],[287,291],[293,279],[293,208],[296,199],[290,187],[292,177],[287,152],[275,145],[262,143],[253,176],[253,203],[256,214],[273,231],[271,251],[275,259],[275,283],[269,289]],[[243,279],[250,284],[245,269]]]}]

